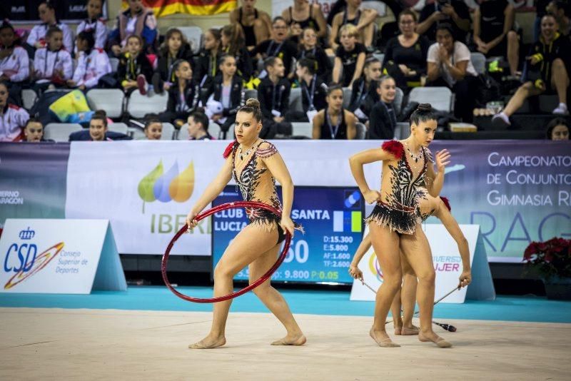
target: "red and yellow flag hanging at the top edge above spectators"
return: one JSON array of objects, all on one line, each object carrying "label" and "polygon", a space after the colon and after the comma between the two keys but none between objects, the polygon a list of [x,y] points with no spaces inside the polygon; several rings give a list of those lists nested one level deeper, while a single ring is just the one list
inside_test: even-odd
[{"label": "red and yellow flag hanging at the top edge above spectators", "polygon": [[[236,8],[236,0],[143,0],[143,5],[153,9],[156,17],[169,14],[193,14],[209,16],[222,14]],[[127,2],[123,0],[123,7]]]}]

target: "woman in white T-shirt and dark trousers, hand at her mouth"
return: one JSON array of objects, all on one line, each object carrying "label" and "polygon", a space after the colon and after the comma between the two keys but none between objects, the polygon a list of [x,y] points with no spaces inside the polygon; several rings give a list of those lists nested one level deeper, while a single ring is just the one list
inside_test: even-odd
[{"label": "woman in white T-shirt and dark trousers, hand at her mouth", "polygon": [[436,29],[436,43],[428,49],[426,86],[447,86],[455,94],[454,114],[465,122],[473,119],[477,72],[468,46],[455,41],[450,24]]}]

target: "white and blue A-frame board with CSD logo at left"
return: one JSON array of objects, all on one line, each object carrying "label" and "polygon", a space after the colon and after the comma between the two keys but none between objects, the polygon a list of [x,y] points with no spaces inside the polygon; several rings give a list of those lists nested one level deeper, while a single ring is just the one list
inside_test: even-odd
[{"label": "white and blue A-frame board with CSD logo at left", "polygon": [[0,258],[3,293],[126,290],[107,220],[8,219]]}]

